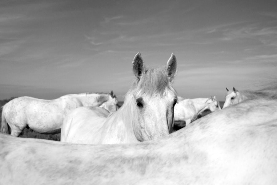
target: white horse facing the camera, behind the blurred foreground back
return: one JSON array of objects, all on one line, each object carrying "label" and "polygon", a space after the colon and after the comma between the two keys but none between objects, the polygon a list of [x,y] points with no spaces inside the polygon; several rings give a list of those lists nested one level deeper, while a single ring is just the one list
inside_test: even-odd
[{"label": "white horse facing the camera, behind the blurred foreground back", "polygon": [[140,53],[133,60],[134,83],[118,111],[109,115],[99,107],[79,107],[62,124],[61,142],[86,144],[134,143],[170,134],[177,95],[172,80],[175,55],[166,69],[145,68]]}]

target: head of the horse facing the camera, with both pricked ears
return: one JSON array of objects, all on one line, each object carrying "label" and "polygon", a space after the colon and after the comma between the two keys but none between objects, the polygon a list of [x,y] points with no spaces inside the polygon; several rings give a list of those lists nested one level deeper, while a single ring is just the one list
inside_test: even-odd
[{"label": "head of the horse facing the camera, with both pricked ears", "polygon": [[174,125],[174,106],[177,95],[171,81],[177,73],[177,62],[172,54],[166,70],[146,69],[138,53],[133,61],[137,77],[132,92],[133,130],[139,141],[161,138],[170,134]]}]

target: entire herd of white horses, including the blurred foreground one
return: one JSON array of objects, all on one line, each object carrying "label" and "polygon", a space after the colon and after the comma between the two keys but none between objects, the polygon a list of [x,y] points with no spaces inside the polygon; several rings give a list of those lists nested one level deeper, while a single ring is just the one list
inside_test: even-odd
[{"label": "entire herd of white horses, including the blurred foreground one", "polygon": [[[177,96],[173,53],[164,70],[146,68],[137,53],[133,73],[120,108],[113,92],[4,105],[0,184],[277,183],[276,86],[226,88],[221,109],[213,96]],[[61,142],[14,137],[25,127],[61,132]]]}]

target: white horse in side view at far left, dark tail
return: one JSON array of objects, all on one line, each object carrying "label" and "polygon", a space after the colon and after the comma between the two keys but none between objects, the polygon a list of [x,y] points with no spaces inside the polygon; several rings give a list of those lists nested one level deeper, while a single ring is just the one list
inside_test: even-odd
[{"label": "white horse in side view at far left, dark tail", "polygon": [[[106,103],[105,103],[106,102]],[[104,105],[102,105],[105,103]],[[18,136],[25,127],[42,134],[59,133],[66,114],[80,106],[100,106],[115,111],[117,98],[110,93],[68,94],[54,100],[18,97],[2,107],[1,131]]]}]

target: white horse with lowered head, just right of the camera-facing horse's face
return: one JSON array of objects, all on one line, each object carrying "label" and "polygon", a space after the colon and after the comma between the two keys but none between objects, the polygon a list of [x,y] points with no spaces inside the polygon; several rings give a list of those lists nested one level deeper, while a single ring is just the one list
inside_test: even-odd
[{"label": "white horse with lowered head, just right of the camera-facing horse's face", "polygon": [[177,102],[174,108],[175,126],[184,127],[197,119],[197,116],[205,110],[214,112],[220,110],[219,101],[214,97],[211,98],[194,98],[181,99]]}]

